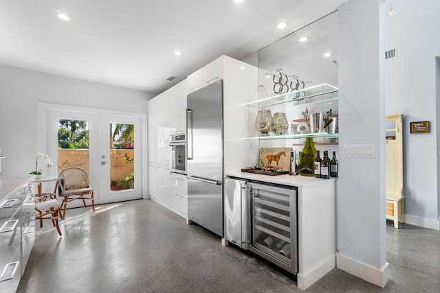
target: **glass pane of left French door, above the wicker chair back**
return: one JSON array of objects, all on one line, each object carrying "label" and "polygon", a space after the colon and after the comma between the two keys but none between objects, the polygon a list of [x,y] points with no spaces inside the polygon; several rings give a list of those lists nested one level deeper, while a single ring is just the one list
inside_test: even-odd
[{"label": "glass pane of left French door, above the wicker chair back", "polygon": [[89,172],[89,121],[58,120],[58,172],[67,167]]}]

